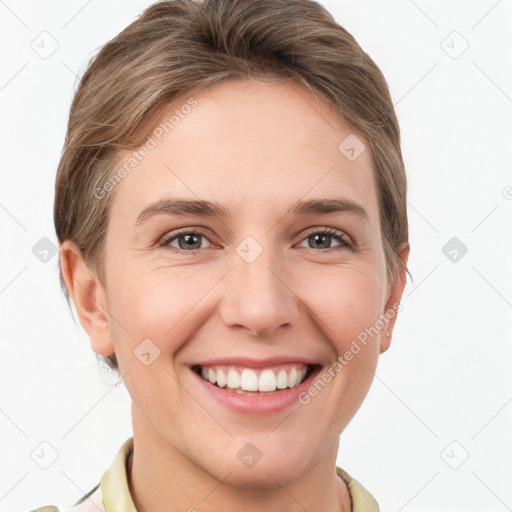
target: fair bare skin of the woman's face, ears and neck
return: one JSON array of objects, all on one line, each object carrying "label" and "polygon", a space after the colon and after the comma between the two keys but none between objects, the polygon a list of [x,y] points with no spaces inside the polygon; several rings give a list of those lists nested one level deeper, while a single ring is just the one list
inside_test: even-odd
[{"label": "fair bare skin of the woman's face, ears and neck", "polygon": [[[369,390],[396,315],[308,404],[283,413],[234,413],[205,395],[189,366],[287,354],[327,368],[400,301],[405,266],[387,279],[370,145],[349,161],[338,145],[353,130],[298,83],[230,81],[194,98],[198,105],[115,189],[104,286],[72,242],[60,247],[91,346],[116,353],[132,398],[134,503],[141,512],[349,511],[335,473],[339,436]],[[232,216],[160,213],[136,224],[149,204],[170,197],[218,201]],[[299,199],[333,197],[359,204],[367,219],[286,215]],[[180,240],[187,250],[183,237],[157,245],[200,227],[194,255],[176,252]],[[305,233],[326,227],[353,248],[334,237],[315,244]],[[262,248],[252,263],[236,252],[247,236]],[[408,252],[399,250],[404,263]],[[145,366],[134,350],[148,338],[160,355]],[[246,442],[262,453],[251,468],[236,456]]]}]

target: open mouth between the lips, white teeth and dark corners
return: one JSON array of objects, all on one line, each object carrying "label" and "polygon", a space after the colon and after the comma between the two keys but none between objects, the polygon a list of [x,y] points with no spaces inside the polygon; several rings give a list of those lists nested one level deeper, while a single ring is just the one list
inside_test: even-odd
[{"label": "open mouth between the lips, white teeth and dark corners", "polygon": [[293,389],[319,369],[318,364],[287,364],[264,369],[232,365],[192,366],[192,370],[209,384],[244,395],[269,395]]}]

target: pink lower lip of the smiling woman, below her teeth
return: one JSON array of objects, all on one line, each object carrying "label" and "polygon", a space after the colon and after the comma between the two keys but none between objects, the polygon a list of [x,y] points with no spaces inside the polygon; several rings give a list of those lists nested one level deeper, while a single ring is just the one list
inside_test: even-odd
[{"label": "pink lower lip of the smiling woman, below her teeth", "polygon": [[315,368],[311,375],[298,386],[276,391],[268,395],[243,395],[234,391],[226,391],[207,382],[194,370],[191,371],[203,389],[209,393],[209,396],[213,397],[220,404],[234,412],[265,416],[285,411],[293,404],[300,404],[298,396],[311,386],[311,381],[321,371],[321,368]]}]

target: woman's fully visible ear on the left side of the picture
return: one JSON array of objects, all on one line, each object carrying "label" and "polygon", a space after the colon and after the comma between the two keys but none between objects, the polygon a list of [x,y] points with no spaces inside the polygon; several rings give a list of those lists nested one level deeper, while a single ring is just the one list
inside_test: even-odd
[{"label": "woman's fully visible ear on the left side of the picture", "polygon": [[105,290],[89,268],[80,248],[70,240],[59,246],[62,277],[75,305],[80,324],[99,355],[110,356],[114,345],[110,334]]}]

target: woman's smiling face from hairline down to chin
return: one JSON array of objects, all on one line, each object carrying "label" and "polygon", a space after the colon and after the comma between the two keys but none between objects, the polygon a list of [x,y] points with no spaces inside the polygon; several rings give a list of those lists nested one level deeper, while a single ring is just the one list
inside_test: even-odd
[{"label": "woman's smiling face from hairline down to chin", "polygon": [[373,157],[296,83],[187,100],[116,186],[92,345],[115,350],[139,438],[235,486],[286,485],[335,459],[389,343],[403,280],[386,279]]}]

